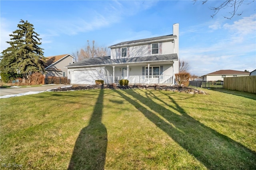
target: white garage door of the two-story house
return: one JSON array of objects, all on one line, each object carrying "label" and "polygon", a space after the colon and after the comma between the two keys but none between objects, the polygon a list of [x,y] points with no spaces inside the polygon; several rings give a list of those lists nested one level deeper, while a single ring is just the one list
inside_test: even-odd
[{"label": "white garage door of the two-story house", "polygon": [[98,78],[97,70],[74,70],[73,84],[95,84]]}]

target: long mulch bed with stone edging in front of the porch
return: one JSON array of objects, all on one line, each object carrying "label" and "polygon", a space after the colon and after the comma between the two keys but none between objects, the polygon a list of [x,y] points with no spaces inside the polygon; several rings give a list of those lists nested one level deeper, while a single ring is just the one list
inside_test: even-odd
[{"label": "long mulch bed with stone edging in front of the porch", "polygon": [[154,90],[168,90],[173,92],[184,92],[189,94],[208,94],[202,90],[190,88],[190,87],[180,87],[180,86],[158,86],[158,85],[128,85],[128,86],[120,86],[120,85],[88,85],[88,86],[78,86],[73,85],[72,87],[65,88],[56,88],[52,89],[52,91],[60,92],[60,91],[70,91],[70,90],[88,90],[88,89],[154,89]]}]

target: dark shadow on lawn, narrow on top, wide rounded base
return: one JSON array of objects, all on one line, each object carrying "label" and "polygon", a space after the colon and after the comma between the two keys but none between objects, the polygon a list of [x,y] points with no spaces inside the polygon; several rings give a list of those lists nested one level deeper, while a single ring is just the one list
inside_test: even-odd
[{"label": "dark shadow on lawn, narrow on top, wide rounded base", "polygon": [[108,144],[107,129],[102,124],[104,90],[100,89],[89,125],[76,140],[68,170],[104,170]]}]

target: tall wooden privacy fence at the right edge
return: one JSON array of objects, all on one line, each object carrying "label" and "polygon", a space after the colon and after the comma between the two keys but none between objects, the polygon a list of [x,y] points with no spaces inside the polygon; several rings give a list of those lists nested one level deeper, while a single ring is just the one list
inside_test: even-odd
[{"label": "tall wooden privacy fence at the right edge", "polygon": [[225,77],[223,88],[256,93],[256,76]]}]

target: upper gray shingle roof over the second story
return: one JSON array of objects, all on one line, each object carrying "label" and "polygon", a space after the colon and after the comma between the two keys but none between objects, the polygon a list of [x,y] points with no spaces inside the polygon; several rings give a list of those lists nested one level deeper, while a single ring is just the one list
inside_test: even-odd
[{"label": "upper gray shingle roof over the second story", "polygon": [[109,48],[116,47],[116,46],[119,46],[119,45],[129,45],[129,44],[135,44],[135,43],[146,43],[146,42],[149,42],[149,41],[158,41],[158,40],[160,41],[160,40],[163,40],[163,39],[173,39],[173,38],[176,38],[176,37],[177,37],[177,35],[164,35],[164,36],[160,36],[160,37],[152,37],[152,38],[138,39],[138,40],[133,40],[133,41],[125,41],[125,42],[122,42],[122,43],[111,45]]}]

